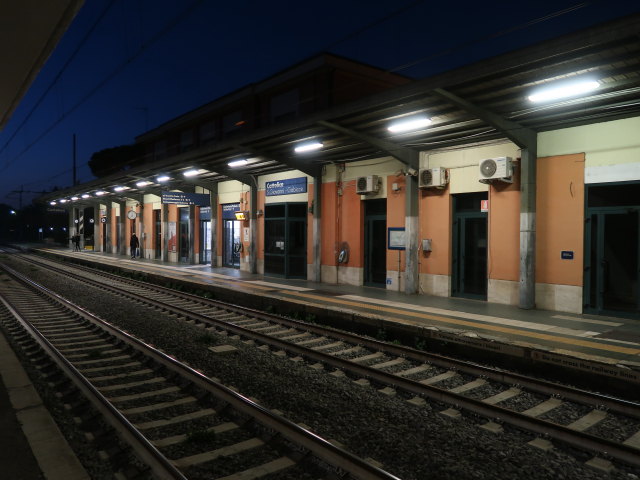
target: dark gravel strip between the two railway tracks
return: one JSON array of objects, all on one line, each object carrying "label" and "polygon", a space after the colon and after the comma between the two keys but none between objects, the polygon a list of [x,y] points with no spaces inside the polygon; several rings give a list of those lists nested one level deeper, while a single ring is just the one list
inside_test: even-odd
[{"label": "dark gravel strip between the two railway tracks", "polygon": [[[589,456],[564,449],[542,452],[527,445],[531,434],[478,428],[482,418],[443,417],[442,405],[416,407],[347,377],[334,377],[234,341],[206,334],[175,317],[96,290],[33,266],[11,261],[41,284],[165,352],[233,385],[262,405],[309,425],[319,435],[381,462],[403,480],[422,479],[637,479],[640,472],[604,474],[583,464]],[[213,344],[233,344],[238,353],[216,356]],[[285,478],[279,476],[278,478]],[[291,477],[293,478],[293,477]]]}]

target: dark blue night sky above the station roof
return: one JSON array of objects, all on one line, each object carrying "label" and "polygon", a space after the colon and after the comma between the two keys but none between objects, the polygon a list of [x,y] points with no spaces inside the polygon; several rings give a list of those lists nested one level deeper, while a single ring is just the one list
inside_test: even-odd
[{"label": "dark blue night sky above the station roof", "polygon": [[322,51],[422,78],[638,12],[630,0],[86,0],[0,132],[0,203],[70,186],[73,134],[86,182],[93,152]]}]

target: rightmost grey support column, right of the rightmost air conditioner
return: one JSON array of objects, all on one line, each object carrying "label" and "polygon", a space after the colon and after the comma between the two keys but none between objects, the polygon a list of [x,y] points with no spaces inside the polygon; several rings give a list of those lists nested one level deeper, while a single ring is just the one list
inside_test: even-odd
[{"label": "rightmost grey support column, right of the rightmost air conditioner", "polygon": [[536,306],[536,163],[537,135],[520,159],[520,308]]}]

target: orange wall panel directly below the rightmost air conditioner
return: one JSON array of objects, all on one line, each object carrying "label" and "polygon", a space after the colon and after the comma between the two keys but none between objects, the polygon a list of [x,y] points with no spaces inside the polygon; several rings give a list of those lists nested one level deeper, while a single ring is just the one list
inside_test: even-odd
[{"label": "orange wall panel directly below the rightmost air conditioner", "polygon": [[520,169],[513,183],[489,187],[488,277],[520,280]]}]

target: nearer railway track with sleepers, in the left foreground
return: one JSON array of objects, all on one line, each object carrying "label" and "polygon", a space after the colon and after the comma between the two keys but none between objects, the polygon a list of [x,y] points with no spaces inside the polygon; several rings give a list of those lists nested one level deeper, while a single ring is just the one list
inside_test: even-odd
[{"label": "nearer railway track with sleepers, in the left foreground", "polygon": [[83,410],[89,402],[153,478],[397,479],[2,269],[10,276],[0,282],[5,328],[64,372],[74,386],[65,396]]}]

